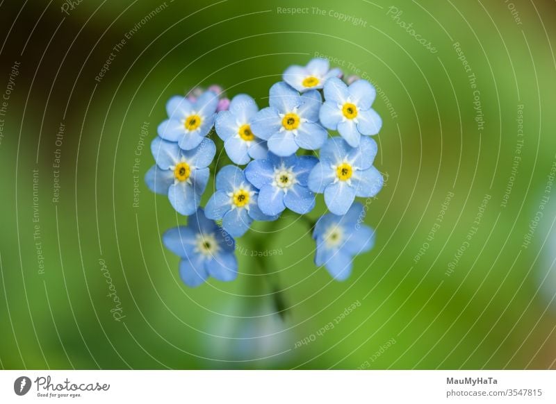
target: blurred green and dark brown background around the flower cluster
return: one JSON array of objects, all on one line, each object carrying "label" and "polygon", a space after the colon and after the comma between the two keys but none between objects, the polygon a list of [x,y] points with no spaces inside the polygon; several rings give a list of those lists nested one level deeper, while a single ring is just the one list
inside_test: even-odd
[{"label": "blurred green and dark brown background around the flower cluster", "polygon": [[[555,20],[554,1],[1,1],[0,367],[555,368]],[[186,219],[142,182],[165,101],[216,83],[266,106],[316,55],[379,90],[375,249],[334,282],[286,214],[238,240],[236,281],[189,289],[161,245]]]}]

